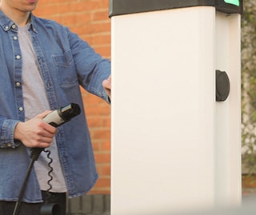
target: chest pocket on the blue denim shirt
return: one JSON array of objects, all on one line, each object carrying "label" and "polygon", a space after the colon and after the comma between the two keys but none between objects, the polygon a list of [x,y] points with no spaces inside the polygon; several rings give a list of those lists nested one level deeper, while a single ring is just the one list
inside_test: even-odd
[{"label": "chest pocket on the blue denim shirt", "polygon": [[53,55],[52,58],[57,68],[59,86],[69,88],[78,85],[78,76],[71,51],[69,50],[64,54]]}]

